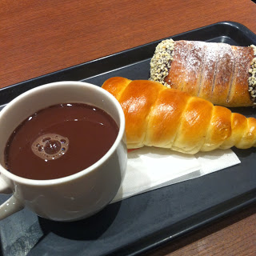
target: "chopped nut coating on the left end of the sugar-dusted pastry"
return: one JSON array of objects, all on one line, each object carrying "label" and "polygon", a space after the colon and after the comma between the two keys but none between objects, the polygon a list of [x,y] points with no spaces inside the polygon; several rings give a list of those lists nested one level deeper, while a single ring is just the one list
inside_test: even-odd
[{"label": "chopped nut coating on the left end of the sugar-dusted pastry", "polygon": [[173,61],[174,40],[166,39],[158,44],[154,51],[154,56],[150,61],[150,80],[160,82],[162,85],[170,87],[165,82],[169,74],[170,62]]}]

